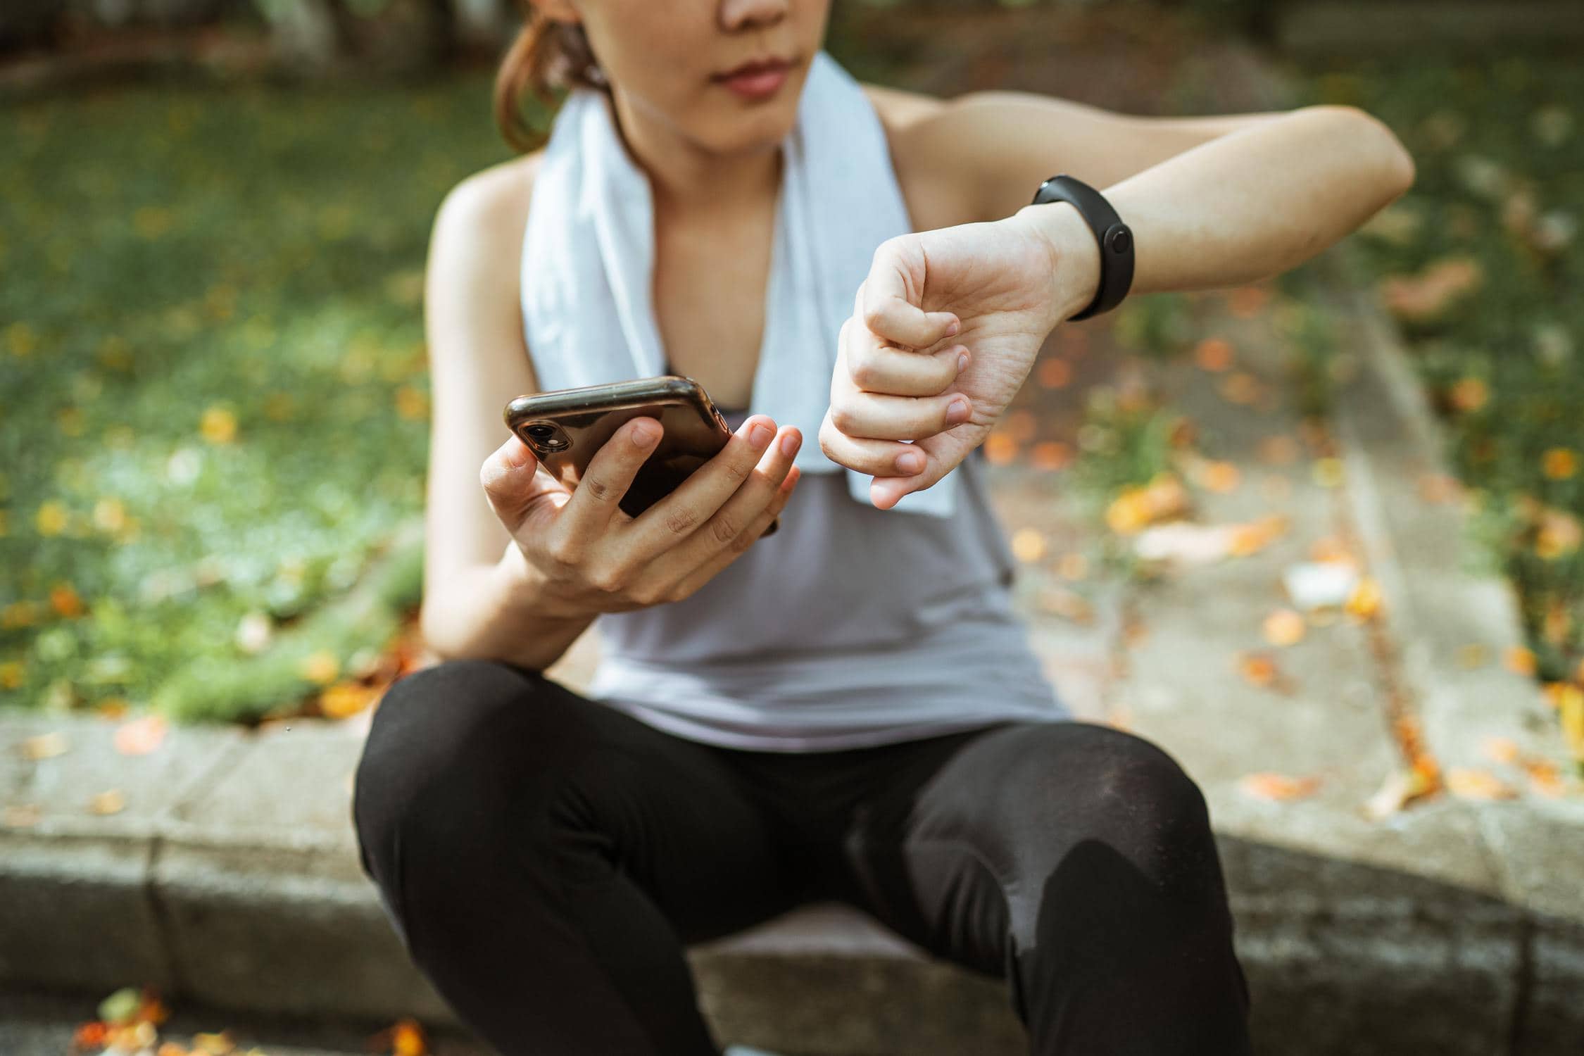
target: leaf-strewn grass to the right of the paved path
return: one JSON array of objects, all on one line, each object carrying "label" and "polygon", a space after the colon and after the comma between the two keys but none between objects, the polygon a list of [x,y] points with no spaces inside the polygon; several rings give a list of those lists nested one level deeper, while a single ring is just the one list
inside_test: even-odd
[{"label": "leaf-strewn grass to the right of the paved path", "polygon": [[1418,180],[1361,228],[1410,339],[1476,529],[1517,586],[1543,679],[1584,652],[1584,66],[1538,55],[1392,59],[1313,76],[1361,106]]}]

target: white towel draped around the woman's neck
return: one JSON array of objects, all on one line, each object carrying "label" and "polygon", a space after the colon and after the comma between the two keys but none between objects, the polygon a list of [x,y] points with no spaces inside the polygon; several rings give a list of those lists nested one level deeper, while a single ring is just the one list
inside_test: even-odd
[{"label": "white towel draped around the woman's neck", "polygon": [[[794,464],[805,473],[846,470],[847,492],[870,505],[873,477],[830,461],[819,426],[841,325],[874,250],[912,230],[908,207],[879,116],[824,51],[781,149],[765,334],[748,413],[797,426],[803,445]],[[653,271],[649,179],[627,154],[607,95],[573,87],[551,127],[523,236],[524,336],[543,391],[667,372]],[[955,496],[952,470],[892,508],[950,516]]]}]

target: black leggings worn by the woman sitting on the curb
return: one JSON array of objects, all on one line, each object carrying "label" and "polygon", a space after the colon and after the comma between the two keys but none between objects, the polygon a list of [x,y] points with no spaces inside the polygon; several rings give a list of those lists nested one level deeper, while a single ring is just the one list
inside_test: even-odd
[{"label": "black leggings worn by the woman sitting on the curb", "polygon": [[1114,727],[740,750],[450,660],[385,693],[352,811],[413,963],[507,1056],[719,1056],[684,945],[824,899],[1009,980],[1036,1056],[1250,1051],[1204,796]]}]

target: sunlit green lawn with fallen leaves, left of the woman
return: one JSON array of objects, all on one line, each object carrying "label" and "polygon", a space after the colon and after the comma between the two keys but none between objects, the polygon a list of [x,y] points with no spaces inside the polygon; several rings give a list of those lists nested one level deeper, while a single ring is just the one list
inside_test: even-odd
[{"label": "sunlit green lawn with fallen leaves, left of the woman", "polygon": [[247,717],[383,644],[410,554],[291,629],[421,515],[428,231],[489,114],[488,74],[10,108],[0,703]]}]

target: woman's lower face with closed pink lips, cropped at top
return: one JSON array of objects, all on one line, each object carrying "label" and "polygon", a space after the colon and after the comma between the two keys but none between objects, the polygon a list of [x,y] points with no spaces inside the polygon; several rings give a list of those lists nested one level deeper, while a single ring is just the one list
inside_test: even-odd
[{"label": "woman's lower face with closed pink lips, cropped at top", "polygon": [[[775,149],[797,120],[830,0],[564,0],[634,120],[716,154]],[[770,95],[744,98],[719,74],[759,59],[792,65]]]}]

